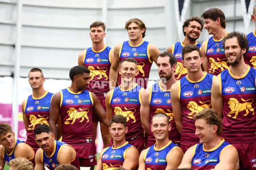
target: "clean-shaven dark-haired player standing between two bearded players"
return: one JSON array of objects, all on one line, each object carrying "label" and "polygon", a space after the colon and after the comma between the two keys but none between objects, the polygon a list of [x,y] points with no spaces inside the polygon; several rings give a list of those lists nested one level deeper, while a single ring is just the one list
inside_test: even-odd
[{"label": "clean-shaven dark-haired player standing between two bearded players", "polygon": [[194,144],[199,143],[195,135],[195,113],[211,108],[211,87],[215,76],[201,69],[203,57],[196,45],[182,48],[182,64],[187,68],[186,77],[178,80],[171,88],[174,120],[181,133],[180,147],[185,153]]}]

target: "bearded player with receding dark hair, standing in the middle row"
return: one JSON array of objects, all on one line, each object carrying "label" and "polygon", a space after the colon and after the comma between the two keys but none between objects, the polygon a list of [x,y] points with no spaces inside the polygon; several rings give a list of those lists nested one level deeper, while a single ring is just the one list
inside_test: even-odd
[{"label": "bearded player with receding dark hair, standing in the middle row", "polygon": [[169,139],[175,144],[180,143],[180,133],[177,130],[173,119],[171,87],[177,82],[174,77],[177,59],[169,52],[162,52],[157,58],[157,68],[160,81],[147,88],[142,95],[140,107],[140,117],[143,129],[148,136],[147,147],[155,143],[155,137],[151,131],[150,125],[152,117],[156,113],[166,113],[169,117],[169,123],[172,125],[172,131],[169,131]]}]

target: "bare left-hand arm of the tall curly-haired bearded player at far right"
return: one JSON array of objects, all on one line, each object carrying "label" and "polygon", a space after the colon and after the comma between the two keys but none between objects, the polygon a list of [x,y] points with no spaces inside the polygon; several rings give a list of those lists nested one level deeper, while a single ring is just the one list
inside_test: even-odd
[{"label": "bare left-hand arm of the tall curly-haired bearded player at far right", "polygon": [[221,118],[223,117],[222,108],[223,108],[223,98],[220,92],[220,76],[216,77],[212,82],[212,108],[214,108],[218,113],[220,113]]}]

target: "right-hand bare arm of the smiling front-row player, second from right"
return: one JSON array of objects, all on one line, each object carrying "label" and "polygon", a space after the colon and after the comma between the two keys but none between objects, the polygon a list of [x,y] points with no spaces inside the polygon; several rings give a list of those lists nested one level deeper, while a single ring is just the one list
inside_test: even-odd
[{"label": "right-hand bare arm of the smiling front-row player, second from right", "polygon": [[180,147],[173,148],[166,156],[166,170],[177,169],[182,161],[183,155],[183,151]]}]

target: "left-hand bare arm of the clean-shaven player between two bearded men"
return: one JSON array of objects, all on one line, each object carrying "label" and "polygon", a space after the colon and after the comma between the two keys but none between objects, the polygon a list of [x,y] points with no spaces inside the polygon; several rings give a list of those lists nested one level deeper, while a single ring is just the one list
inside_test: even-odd
[{"label": "left-hand bare arm of the clean-shaven player between two bearded men", "polygon": [[171,88],[171,99],[172,99],[172,107],[173,110],[173,117],[175,120],[175,124],[177,126],[177,130],[181,134],[182,129],[182,108],[180,105],[180,99],[178,97],[178,82],[175,82],[175,84],[172,85]]}]

